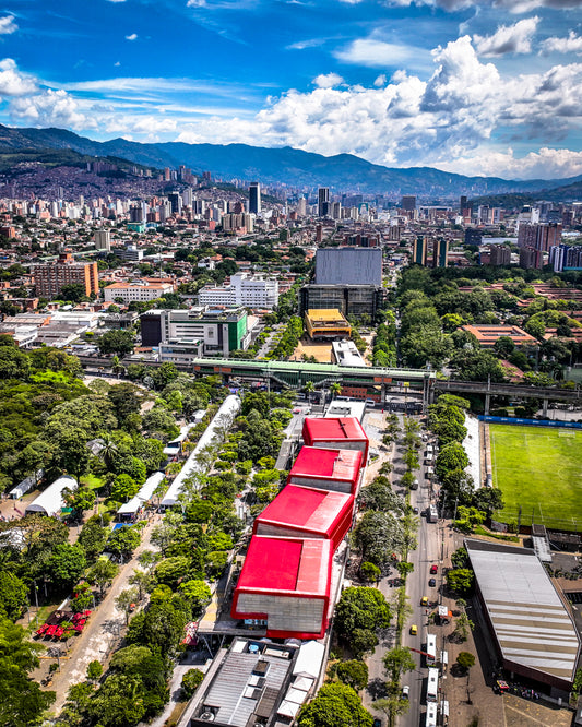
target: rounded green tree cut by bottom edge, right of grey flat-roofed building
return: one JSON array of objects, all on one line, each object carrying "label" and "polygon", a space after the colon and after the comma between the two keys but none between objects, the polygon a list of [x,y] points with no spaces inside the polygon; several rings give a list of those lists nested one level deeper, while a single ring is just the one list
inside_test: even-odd
[{"label": "rounded green tree cut by bottom edge, right of grey flat-roofed building", "polygon": [[323,684],[316,699],[301,707],[299,727],[372,727],[372,716],[357,693],[341,683]]}]

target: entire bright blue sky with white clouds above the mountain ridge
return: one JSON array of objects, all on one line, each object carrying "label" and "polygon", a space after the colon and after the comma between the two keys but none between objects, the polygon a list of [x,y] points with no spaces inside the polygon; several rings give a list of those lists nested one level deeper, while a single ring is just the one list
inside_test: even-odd
[{"label": "entire bright blue sky with white clouds above the mountain ridge", "polygon": [[582,0],[14,0],[0,122],[582,174]]}]

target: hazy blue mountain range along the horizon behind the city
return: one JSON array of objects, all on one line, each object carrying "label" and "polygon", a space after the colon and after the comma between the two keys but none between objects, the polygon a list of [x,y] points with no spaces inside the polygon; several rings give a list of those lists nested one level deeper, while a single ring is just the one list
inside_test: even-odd
[{"label": "hazy blue mountain range along the horizon behind the city", "polygon": [[[582,175],[568,179],[507,180],[465,177],[431,167],[390,168],[353,154],[322,156],[284,146],[265,148],[247,144],[149,143],[112,139],[96,142],[64,129],[17,129],[0,124],[0,153],[16,150],[72,150],[99,157],[120,157],[156,168],[189,167],[194,174],[211,171],[224,180],[284,183],[299,190],[330,187],[335,192],[416,194],[424,199],[470,198],[488,194],[534,193],[542,199],[580,199]],[[568,188],[562,189],[561,188]]]}]

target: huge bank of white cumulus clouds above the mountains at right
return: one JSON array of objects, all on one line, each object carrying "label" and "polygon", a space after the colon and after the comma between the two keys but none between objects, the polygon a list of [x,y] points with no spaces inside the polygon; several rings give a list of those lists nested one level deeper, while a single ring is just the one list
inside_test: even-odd
[{"label": "huge bank of white cumulus clouds above the mountains at right", "polygon": [[[331,155],[353,153],[388,166],[429,165],[466,174],[548,177],[577,174],[577,153],[533,154],[519,168],[511,150],[501,150],[487,166],[487,148],[499,128],[523,140],[543,134],[559,141],[582,121],[578,104],[582,64],[557,65],[545,73],[503,78],[479,60],[463,36],[433,53],[428,81],[396,72],[382,86],[292,90],[251,119],[213,118],[183,124],[180,141],[290,145]],[[456,166],[459,162],[459,167]],[[582,170],[582,169],[581,169]],[[511,172],[511,174],[510,174]]]}]

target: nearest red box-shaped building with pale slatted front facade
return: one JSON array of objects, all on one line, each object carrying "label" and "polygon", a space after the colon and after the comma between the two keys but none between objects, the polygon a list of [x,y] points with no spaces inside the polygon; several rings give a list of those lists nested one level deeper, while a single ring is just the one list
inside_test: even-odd
[{"label": "nearest red box-shaped building with pale slatted front facade", "polygon": [[274,639],[321,639],[328,627],[333,546],[311,538],[251,538],[235,595],[235,619],[266,621]]}]

